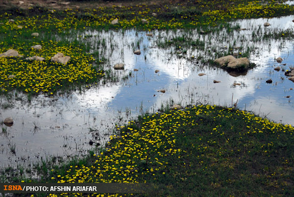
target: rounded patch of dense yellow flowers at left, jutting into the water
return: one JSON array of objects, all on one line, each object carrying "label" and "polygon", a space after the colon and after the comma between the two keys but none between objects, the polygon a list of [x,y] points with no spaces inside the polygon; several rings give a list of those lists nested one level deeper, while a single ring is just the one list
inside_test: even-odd
[{"label": "rounded patch of dense yellow flowers at left, jutting into the water", "polygon": [[[32,43],[36,45],[38,43]],[[25,43],[19,46],[12,45],[10,49],[16,49],[24,57],[0,57],[0,92],[20,90],[28,93],[51,93],[61,88],[68,88],[73,83],[94,82],[104,74],[96,71],[91,62],[94,58],[82,52],[82,49],[72,45],[62,46],[58,42],[41,41],[42,49],[31,49]],[[0,49],[0,53],[8,48]],[[57,52],[70,56],[71,60],[66,64],[53,63],[50,58]],[[25,57],[44,57],[44,61],[25,60]],[[14,75],[15,77],[9,77]]]}]

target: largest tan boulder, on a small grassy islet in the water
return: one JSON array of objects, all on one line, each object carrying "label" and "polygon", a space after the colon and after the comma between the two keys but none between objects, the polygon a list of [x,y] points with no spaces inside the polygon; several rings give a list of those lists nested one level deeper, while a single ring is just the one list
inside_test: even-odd
[{"label": "largest tan boulder, on a small grassy islet in the water", "polygon": [[230,68],[230,69],[238,69],[238,68],[247,69],[250,63],[247,57],[235,58],[233,55],[220,57],[218,59],[215,59],[214,62],[220,64],[221,67],[227,66],[227,68]]}]

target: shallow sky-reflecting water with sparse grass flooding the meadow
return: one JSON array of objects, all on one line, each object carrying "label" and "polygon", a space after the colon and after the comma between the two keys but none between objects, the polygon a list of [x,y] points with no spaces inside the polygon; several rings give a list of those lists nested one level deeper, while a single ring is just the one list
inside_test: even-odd
[{"label": "shallow sky-reflecting water with sparse grass flooding the meadow", "polygon": [[[105,68],[111,69],[119,82],[52,98],[41,95],[30,102],[20,93],[2,97],[0,120],[12,117],[14,124],[1,125],[1,165],[46,160],[53,155],[84,155],[107,142],[116,124],[173,103],[228,107],[237,103],[240,109],[294,125],[294,83],[285,75],[294,66],[294,42],[282,39],[282,34],[293,33],[293,19],[242,20],[204,33],[169,30],[147,36],[143,31],[110,30],[57,38],[77,39],[90,47],[90,53],[104,55]],[[265,27],[266,22],[270,26]],[[174,38],[184,38],[188,45],[163,47]],[[190,47],[190,41],[197,41],[196,46]],[[140,55],[133,53],[136,49],[141,49]],[[228,73],[208,64],[217,52],[239,57],[248,53],[256,66],[246,73]],[[282,57],[282,63],[276,62],[277,57]],[[114,70],[117,63],[123,63],[124,70]],[[274,70],[277,66],[280,71]],[[266,83],[269,79],[272,83]]]}]

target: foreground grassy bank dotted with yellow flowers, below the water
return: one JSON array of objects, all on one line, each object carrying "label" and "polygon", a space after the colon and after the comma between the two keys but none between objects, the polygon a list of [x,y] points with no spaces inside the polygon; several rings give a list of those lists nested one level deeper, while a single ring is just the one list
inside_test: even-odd
[{"label": "foreground grassy bank dotted with yellow flowers, below the water", "polygon": [[147,196],[294,195],[290,125],[199,105],[139,116],[118,131],[103,154],[46,167],[42,181],[146,182]]}]

